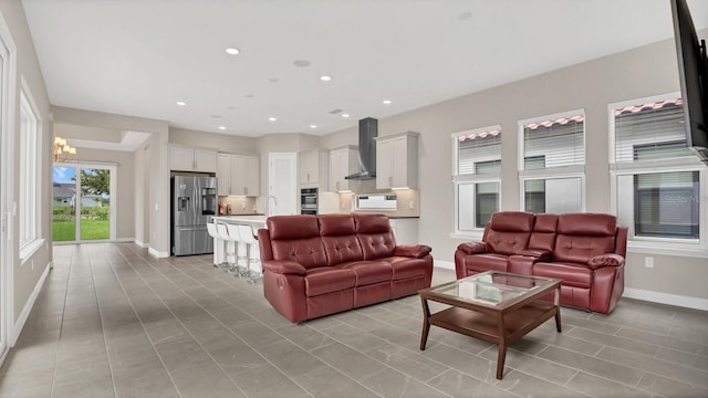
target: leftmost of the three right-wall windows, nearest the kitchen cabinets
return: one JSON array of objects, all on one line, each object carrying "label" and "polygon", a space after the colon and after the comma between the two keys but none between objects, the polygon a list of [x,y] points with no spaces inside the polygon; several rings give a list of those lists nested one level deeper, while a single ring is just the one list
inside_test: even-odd
[{"label": "leftmost of the three right-wall windows, nearest the kitchen cabinets", "polygon": [[455,230],[483,229],[499,211],[501,129],[499,126],[452,134]]}]

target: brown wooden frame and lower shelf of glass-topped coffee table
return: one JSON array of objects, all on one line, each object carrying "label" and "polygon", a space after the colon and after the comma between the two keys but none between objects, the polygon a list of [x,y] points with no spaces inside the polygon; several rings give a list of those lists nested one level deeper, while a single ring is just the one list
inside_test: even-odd
[{"label": "brown wooden frame and lower shelf of glass-topped coffee table", "polygon": [[[509,276],[525,276],[497,271],[487,271],[473,276],[491,273]],[[561,308],[559,302],[561,298],[562,281],[550,277],[542,280],[548,280],[548,282],[508,302],[502,302],[497,305],[482,301],[464,300],[435,291],[459,283],[461,280],[418,291],[423,304],[420,350],[425,349],[430,325],[497,344],[499,346],[497,379],[501,380],[504,359],[507,357],[507,347],[551,317],[555,317],[555,328],[561,333]],[[555,291],[553,303],[539,301],[540,297],[553,291]],[[450,307],[430,314],[428,301],[448,304]]]}]

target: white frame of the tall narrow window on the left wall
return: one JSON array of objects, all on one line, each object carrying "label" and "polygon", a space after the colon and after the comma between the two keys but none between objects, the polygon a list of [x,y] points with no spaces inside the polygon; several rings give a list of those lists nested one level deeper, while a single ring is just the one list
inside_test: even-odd
[{"label": "white frame of the tall narrow window on the left wall", "polygon": [[42,211],[42,119],[24,77],[20,90],[20,192],[18,239],[20,263],[24,264],[37,252],[44,239],[41,235]]}]

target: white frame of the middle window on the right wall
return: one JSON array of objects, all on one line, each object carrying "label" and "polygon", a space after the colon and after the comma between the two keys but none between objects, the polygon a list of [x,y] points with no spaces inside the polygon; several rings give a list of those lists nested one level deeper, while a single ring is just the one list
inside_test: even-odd
[{"label": "white frame of the middle window on the right wall", "polygon": [[584,108],[568,111],[568,112],[562,112],[562,113],[556,113],[556,114],[545,115],[545,116],[530,117],[530,118],[518,122],[517,126],[519,132],[518,133],[519,151],[518,151],[518,158],[517,158],[517,168],[519,171],[519,196],[520,196],[519,203],[520,203],[521,211],[524,211],[523,209],[527,208],[525,195],[524,195],[525,181],[540,180],[540,179],[551,180],[551,179],[563,179],[563,178],[580,178],[581,211],[585,211],[585,202],[586,202],[585,163],[583,163],[583,165],[551,167],[551,168],[543,168],[543,169],[532,169],[532,170],[524,169],[524,158],[525,158],[524,156],[525,155],[525,137],[523,135],[524,126],[530,123],[535,123],[541,121],[552,121],[552,119],[559,119],[563,117],[572,117],[576,115],[583,115],[583,151],[584,151],[583,158],[585,159],[585,163],[587,163],[587,136],[585,134],[585,132],[587,132],[587,117],[585,116]]}]

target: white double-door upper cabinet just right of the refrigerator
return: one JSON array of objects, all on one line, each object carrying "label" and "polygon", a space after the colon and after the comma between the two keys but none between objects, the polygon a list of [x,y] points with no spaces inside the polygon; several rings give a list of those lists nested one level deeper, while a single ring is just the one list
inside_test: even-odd
[{"label": "white double-door upper cabinet just right of the refrigerator", "polygon": [[261,166],[257,155],[219,154],[217,163],[219,196],[261,195]]}]

